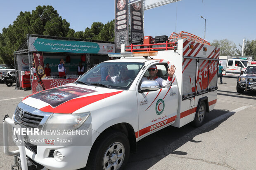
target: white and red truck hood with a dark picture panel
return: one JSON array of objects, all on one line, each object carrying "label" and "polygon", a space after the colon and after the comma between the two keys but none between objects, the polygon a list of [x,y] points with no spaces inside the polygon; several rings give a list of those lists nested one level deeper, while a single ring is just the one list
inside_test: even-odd
[{"label": "white and red truck hood with a dark picture panel", "polygon": [[43,112],[73,113],[81,107],[121,92],[109,88],[69,84],[34,93],[22,102]]}]

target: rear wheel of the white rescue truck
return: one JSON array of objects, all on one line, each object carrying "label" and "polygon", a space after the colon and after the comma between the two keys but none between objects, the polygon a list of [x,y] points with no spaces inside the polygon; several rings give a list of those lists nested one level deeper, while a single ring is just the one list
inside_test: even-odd
[{"label": "rear wheel of the white rescue truck", "polygon": [[202,126],[204,124],[205,116],[206,116],[206,105],[205,105],[205,102],[201,102],[199,105],[199,108],[197,108],[196,115],[194,116],[193,125],[195,127]]}]

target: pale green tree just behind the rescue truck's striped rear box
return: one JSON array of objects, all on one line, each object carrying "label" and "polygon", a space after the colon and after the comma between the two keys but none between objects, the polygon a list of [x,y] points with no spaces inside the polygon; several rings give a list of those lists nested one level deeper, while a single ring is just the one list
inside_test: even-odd
[{"label": "pale green tree just behind the rescue truck's striped rear box", "polygon": [[234,56],[237,55],[236,45],[234,42],[223,39],[223,40],[213,40],[211,43],[214,47],[220,48],[220,56]]}]

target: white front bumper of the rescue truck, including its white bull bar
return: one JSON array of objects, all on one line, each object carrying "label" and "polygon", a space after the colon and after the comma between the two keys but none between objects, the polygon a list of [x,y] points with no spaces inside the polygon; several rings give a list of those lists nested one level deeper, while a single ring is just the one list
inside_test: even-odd
[{"label": "white front bumper of the rescue truck, including its white bull bar", "polygon": [[[44,119],[43,119],[44,120]],[[43,121],[42,120],[42,121]],[[42,122],[41,121],[41,122]],[[13,140],[16,138],[23,140],[28,139],[28,141],[22,142],[22,144],[15,143],[19,149],[17,151],[9,151],[9,144],[8,144],[8,128],[7,124],[11,124],[13,128],[24,128],[17,124],[17,121],[14,119],[14,116],[11,118],[6,118],[4,121],[4,151],[5,154],[8,156],[13,156],[20,154],[21,166],[23,165],[22,169],[26,170],[27,167],[27,160],[26,156],[28,156],[34,162],[42,165],[44,170],[76,170],[79,168],[83,168],[86,166],[88,156],[90,154],[90,149],[92,147],[93,141],[92,139],[96,139],[100,133],[88,128],[89,126],[85,126],[84,124],[78,129],[89,129],[89,135],[75,135],[72,137],[72,143],[62,143],[62,144],[51,144],[45,142],[45,139],[54,139],[56,136],[41,136],[43,138],[43,143],[37,144],[28,142],[33,139],[37,139],[33,135],[12,135]],[[15,125],[16,124],[16,125]],[[12,129],[13,130],[13,129]],[[40,139],[41,139],[40,138]],[[65,140],[67,137],[65,136],[58,136],[60,140]],[[74,141],[74,142],[73,142]],[[78,142],[77,142],[78,141]],[[82,142],[81,142],[82,141]],[[14,141],[15,142],[15,141]],[[77,145],[76,145],[77,144]],[[38,146],[37,146],[38,145]],[[62,154],[62,160],[56,158],[57,151]]]}]

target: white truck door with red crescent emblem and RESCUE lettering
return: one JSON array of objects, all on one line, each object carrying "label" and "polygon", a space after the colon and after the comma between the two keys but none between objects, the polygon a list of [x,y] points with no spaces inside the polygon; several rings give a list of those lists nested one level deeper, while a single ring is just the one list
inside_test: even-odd
[{"label": "white truck door with red crescent emblem and RESCUE lettering", "polygon": [[[166,69],[168,69],[167,63],[161,65],[166,65]],[[157,65],[157,68],[164,68],[162,66]],[[145,69],[145,73],[147,73],[148,68]],[[167,70],[162,70],[162,72],[167,73]],[[178,87],[173,83],[172,86],[161,87],[157,91],[140,93],[137,90],[137,102],[139,114],[138,137],[141,138],[174,123],[177,116]]]}]

